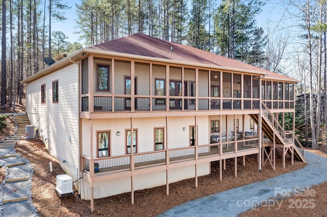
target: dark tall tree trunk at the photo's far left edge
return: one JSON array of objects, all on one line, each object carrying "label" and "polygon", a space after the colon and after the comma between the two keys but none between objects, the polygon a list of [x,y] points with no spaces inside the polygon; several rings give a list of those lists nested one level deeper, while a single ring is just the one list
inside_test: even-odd
[{"label": "dark tall tree trunk at the photo's far left edge", "polygon": [[6,108],[7,102],[7,70],[6,70],[6,0],[2,1],[2,40],[1,40],[1,105]]}]

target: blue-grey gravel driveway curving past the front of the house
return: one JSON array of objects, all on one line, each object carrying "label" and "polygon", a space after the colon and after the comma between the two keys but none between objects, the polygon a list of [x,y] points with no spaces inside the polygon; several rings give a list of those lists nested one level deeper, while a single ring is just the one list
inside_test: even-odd
[{"label": "blue-grey gravel driveway curving past the front of the house", "polygon": [[269,198],[327,181],[327,158],[307,151],[306,161],[300,170],[189,201],[158,216],[237,216],[261,202],[275,203]]}]

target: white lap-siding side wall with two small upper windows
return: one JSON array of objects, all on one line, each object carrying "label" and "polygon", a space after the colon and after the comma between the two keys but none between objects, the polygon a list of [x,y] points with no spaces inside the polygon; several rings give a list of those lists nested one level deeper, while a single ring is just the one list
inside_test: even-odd
[{"label": "white lap-siding side wall with two small upper windows", "polygon": [[[52,102],[52,82],[58,80],[58,103]],[[41,104],[41,85],[45,84],[46,103]],[[36,124],[50,153],[65,160],[67,171],[76,178],[79,162],[78,65],[71,64],[27,85],[26,111]],[[38,122],[37,122],[38,120]],[[71,137],[71,141],[68,137]]]}]

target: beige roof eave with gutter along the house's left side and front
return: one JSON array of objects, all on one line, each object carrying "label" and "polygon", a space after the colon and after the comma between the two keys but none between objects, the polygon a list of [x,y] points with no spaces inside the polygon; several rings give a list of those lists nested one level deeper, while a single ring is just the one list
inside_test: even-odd
[{"label": "beige roof eave with gutter along the house's left side and front", "polygon": [[[25,78],[21,81],[21,84],[28,84],[32,82],[33,80],[51,73],[59,68],[62,68],[68,64],[75,64],[79,63],[81,59],[84,58],[86,55],[105,55],[110,57],[120,57],[120,58],[129,58],[134,60],[146,60],[150,62],[160,62],[160,63],[170,63],[170,64],[177,64],[177,65],[187,65],[190,67],[199,67],[199,68],[210,68],[210,69],[216,69],[221,71],[235,71],[235,72],[243,72],[243,73],[251,73],[251,74],[258,74],[258,75],[269,75],[268,72],[260,72],[260,71],[254,71],[254,70],[245,70],[245,69],[239,69],[239,68],[231,68],[231,67],[223,67],[223,66],[217,66],[217,65],[211,65],[211,64],[201,64],[201,63],[194,63],[194,62],[187,62],[187,61],[178,61],[178,60],[170,60],[170,59],[164,59],[164,58],[156,58],[156,57],[147,57],[147,56],[141,56],[141,55],[131,55],[128,53],[120,53],[120,52],[113,52],[113,51],[107,51],[107,50],[97,50],[97,49],[91,49],[91,48],[82,48],[68,57],[40,70],[39,72]],[[84,56],[83,56],[84,55]],[[276,79],[276,78],[274,78]]]}]

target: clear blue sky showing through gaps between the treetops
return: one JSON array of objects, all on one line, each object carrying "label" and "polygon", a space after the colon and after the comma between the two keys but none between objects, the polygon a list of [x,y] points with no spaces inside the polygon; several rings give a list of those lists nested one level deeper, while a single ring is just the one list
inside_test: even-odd
[{"label": "clear blue sky showing through gaps between the treetops", "polygon": [[[262,28],[266,29],[267,20],[271,22],[271,26],[274,25],[281,25],[282,23],[279,22],[281,17],[283,17],[283,13],[285,11],[284,6],[282,4],[282,0],[271,0],[265,1],[266,5],[263,7],[262,12],[257,16],[257,25],[261,26]],[[63,1],[65,2],[65,1]],[[66,0],[66,4],[71,7],[71,9],[64,11],[64,16],[67,18],[63,22],[53,22],[52,23],[52,31],[61,31],[69,38],[67,41],[73,43],[78,41],[78,35],[74,34],[74,32],[78,31],[77,24],[75,22],[76,16],[76,5],[80,4],[78,0]],[[285,22],[285,19],[284,19]],[[83,42],[80,42],[83,43]]]}]

